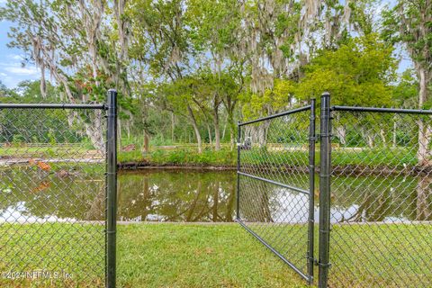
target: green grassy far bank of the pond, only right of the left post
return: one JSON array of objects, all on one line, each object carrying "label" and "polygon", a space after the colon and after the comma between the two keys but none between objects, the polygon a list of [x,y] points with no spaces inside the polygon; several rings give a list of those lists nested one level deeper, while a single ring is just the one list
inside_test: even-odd
[{"label": "green grassy far bank of the pond, only right of the left post", "polygon": [[[415,149],[410,148],[333,148],[333,166],[415,166],[418,163]],[[244,163],[266,166],[307,166],[309,151],[264,149],[243,150]],[[316,151],[316,164],[320,151]],[[153,166],[236,166],[237,150],[203,150],[201,154],[193,149],[155,150],[148,154],[140,151],[121,152],[119,161],[147,162]]]}]

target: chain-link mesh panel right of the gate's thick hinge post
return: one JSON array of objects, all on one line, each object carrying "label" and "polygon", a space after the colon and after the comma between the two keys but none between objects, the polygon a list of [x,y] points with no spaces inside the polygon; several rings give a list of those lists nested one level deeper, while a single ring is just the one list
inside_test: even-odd
[{"label": "chain-link mesh panel right of the gate's thick hinge post", "polygon": [[431,116],[332,118],[329,286],[432,286]]}]

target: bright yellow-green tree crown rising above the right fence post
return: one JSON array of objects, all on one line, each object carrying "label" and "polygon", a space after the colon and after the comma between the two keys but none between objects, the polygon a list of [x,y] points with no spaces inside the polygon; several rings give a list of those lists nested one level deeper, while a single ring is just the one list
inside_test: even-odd
[{"label": "bright yellow-green tree crown rising above the right fence post", "polygon": [[390,84],[397,64],[392,51],[376,34],[349,40],[337,50],[323,50],[305,67],[296,95],[311,99],[329,91],[334,104],[392,106]]}]

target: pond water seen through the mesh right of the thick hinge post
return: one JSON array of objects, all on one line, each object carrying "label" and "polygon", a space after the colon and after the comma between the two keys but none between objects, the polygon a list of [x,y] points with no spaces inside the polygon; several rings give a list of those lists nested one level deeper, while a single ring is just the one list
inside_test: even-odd
[{"label": "pond water seen through the mesh right of the thick hinge post", "polygon": [[[332,183],[333,214],[343,221],[431,220],[432,177],[338,177]],[[350,207],[355,212],[347,213]],[[353,210],[351,210],[353,211]]]}]

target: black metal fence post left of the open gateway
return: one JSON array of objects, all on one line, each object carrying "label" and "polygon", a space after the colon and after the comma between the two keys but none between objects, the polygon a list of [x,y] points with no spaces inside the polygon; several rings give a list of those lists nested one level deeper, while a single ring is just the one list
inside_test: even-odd
[{"label": "black metal fence post left of the open gateway", "polygon": [[106,286],[115,287],[117,215],[117,91],[108,91],[106,131]]}]

